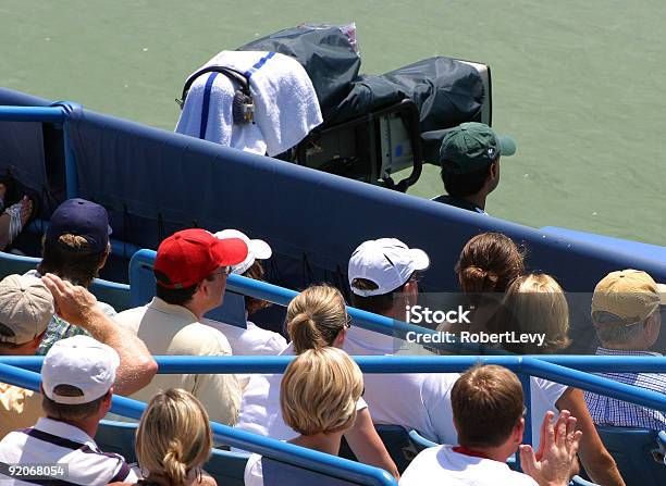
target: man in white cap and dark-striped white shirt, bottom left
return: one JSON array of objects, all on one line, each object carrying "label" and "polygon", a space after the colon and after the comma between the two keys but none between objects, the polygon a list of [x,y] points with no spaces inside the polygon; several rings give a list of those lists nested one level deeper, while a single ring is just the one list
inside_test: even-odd
[{"label": "man in white cap and dark-striped white shirt, bottom left", "polygon": [[[41,366],[46,416],[32,428],[12,432],[0,441],[0,483],[135,483],[138,478],[125,460],[103,453],[92,439],[99,421],[111,408],[119,364],[120,357],[112,348],[89,336],[57,341]],[[45,468],[47,464],[50,466]]]}]

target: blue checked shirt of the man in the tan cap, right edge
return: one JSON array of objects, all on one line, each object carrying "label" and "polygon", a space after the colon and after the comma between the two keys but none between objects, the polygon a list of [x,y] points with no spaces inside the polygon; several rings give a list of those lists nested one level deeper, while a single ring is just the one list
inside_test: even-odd
[{"label": "blue checked shirt of the man in the tan cap, right edge", "polygon": [[[662,356],[658,352],[625,351],[618,349],[597,348],[596,354],[604,356]],[[604,378],[614,379],[627,385],[666,394],[666,374],[656,373],[597,373]],[[627,403],[615,398],[584,392],[585,403],[595,424],[615,425],[619,427],[639,427],[653,431],[666,429],[666,414],[646,409],[633,403]]]}]

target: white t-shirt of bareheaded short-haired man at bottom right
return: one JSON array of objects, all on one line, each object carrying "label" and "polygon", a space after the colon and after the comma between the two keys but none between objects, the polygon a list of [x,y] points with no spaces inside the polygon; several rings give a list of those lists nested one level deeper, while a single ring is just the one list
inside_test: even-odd
[{"label": "white t-shirt of bareheaded short-haired man at bottom right", "polygon": [[421,451],[403,473],[399,485],[536,486],[536,482],[527,474],[511,471],[504,462],[454,452],[452,446],[440,446]]}]

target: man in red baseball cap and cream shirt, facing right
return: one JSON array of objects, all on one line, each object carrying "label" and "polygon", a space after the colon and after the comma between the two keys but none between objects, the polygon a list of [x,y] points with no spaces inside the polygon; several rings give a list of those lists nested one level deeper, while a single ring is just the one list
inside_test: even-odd
[{"label": "man in red baseball cap and cream shirt, facing right", "polygon": [[[197,228],[173,234],[157,251],[157,297],[147,306],[121,312],[118,323],[143,339],[155,356],[232,354],[224,335],[200,321],[222,304],[230,265],[246,257],[247,246],[240,239],[221,240]],[[240,386],[235,375],[158,375],[132,398],[147,402],[157,390],[168,388],[193,394],[214,422],[236,422]]]}]

